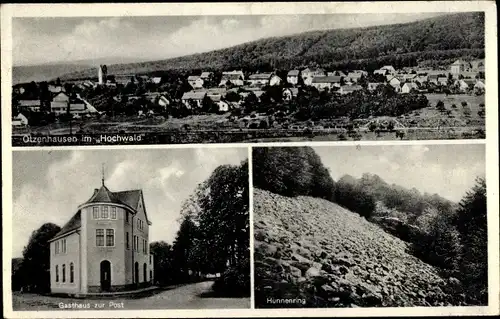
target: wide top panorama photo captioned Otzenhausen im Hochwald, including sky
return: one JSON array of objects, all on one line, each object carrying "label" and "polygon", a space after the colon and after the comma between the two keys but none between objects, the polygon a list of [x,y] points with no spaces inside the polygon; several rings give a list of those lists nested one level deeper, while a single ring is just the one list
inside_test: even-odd
[{"label": "wide top panorama photo captioned Otzenhausen im Hochwald, including sky", "polygon": [[12,145],[484,139],[484,20],[15,17]]}]

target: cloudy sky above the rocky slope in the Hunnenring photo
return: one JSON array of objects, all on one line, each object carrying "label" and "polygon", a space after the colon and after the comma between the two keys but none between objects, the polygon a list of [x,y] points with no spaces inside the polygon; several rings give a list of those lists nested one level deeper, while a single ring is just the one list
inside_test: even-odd
[{"label": "cloudy sky above the rocky slope in the Hunnenring photo", "polygon": [[314,147],[337,181],[348,174],[377,174],[389,184],[415,187],[459,202],[485,176],[485,147],[480,144]]}]

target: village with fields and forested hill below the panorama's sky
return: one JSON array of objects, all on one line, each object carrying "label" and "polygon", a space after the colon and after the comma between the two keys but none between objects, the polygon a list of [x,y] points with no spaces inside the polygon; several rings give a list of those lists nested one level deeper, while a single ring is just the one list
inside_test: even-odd
[{"label": "village with fields and forested hill below the panorama's sky", "polygon": [[[305,33],[15,83],[13,145],[485,138],[483,19]],[[455,20],[447,36],[462,42],[418,39]],[[383,41],[358,50],[374,32]]]}]

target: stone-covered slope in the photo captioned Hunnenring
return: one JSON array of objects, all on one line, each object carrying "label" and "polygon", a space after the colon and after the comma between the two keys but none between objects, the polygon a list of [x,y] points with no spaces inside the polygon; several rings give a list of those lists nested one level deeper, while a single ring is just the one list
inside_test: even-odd
[{"label": "stone-covered slope in the photo captioned Hunnenring", "polygon": [[452,286],[407,244],[326,200],[254,189],[255,300],[284,307],[457,304]]}]

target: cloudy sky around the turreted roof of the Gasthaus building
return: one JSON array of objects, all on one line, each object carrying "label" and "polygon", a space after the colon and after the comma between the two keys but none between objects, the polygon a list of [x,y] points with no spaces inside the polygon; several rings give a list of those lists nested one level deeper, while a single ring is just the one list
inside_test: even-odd
[{"label": "cloudy sky around the turreted roof of the Gasthaus building", "polygon": [[181,205],[196,186],[219,165],[239,165],[247,156],[246,147],[13,152],[12,256],[22,256],[44,223],[69,221],[101,186],[103,164],[109,190],[143,190],[150,242],[172,243]]}]

